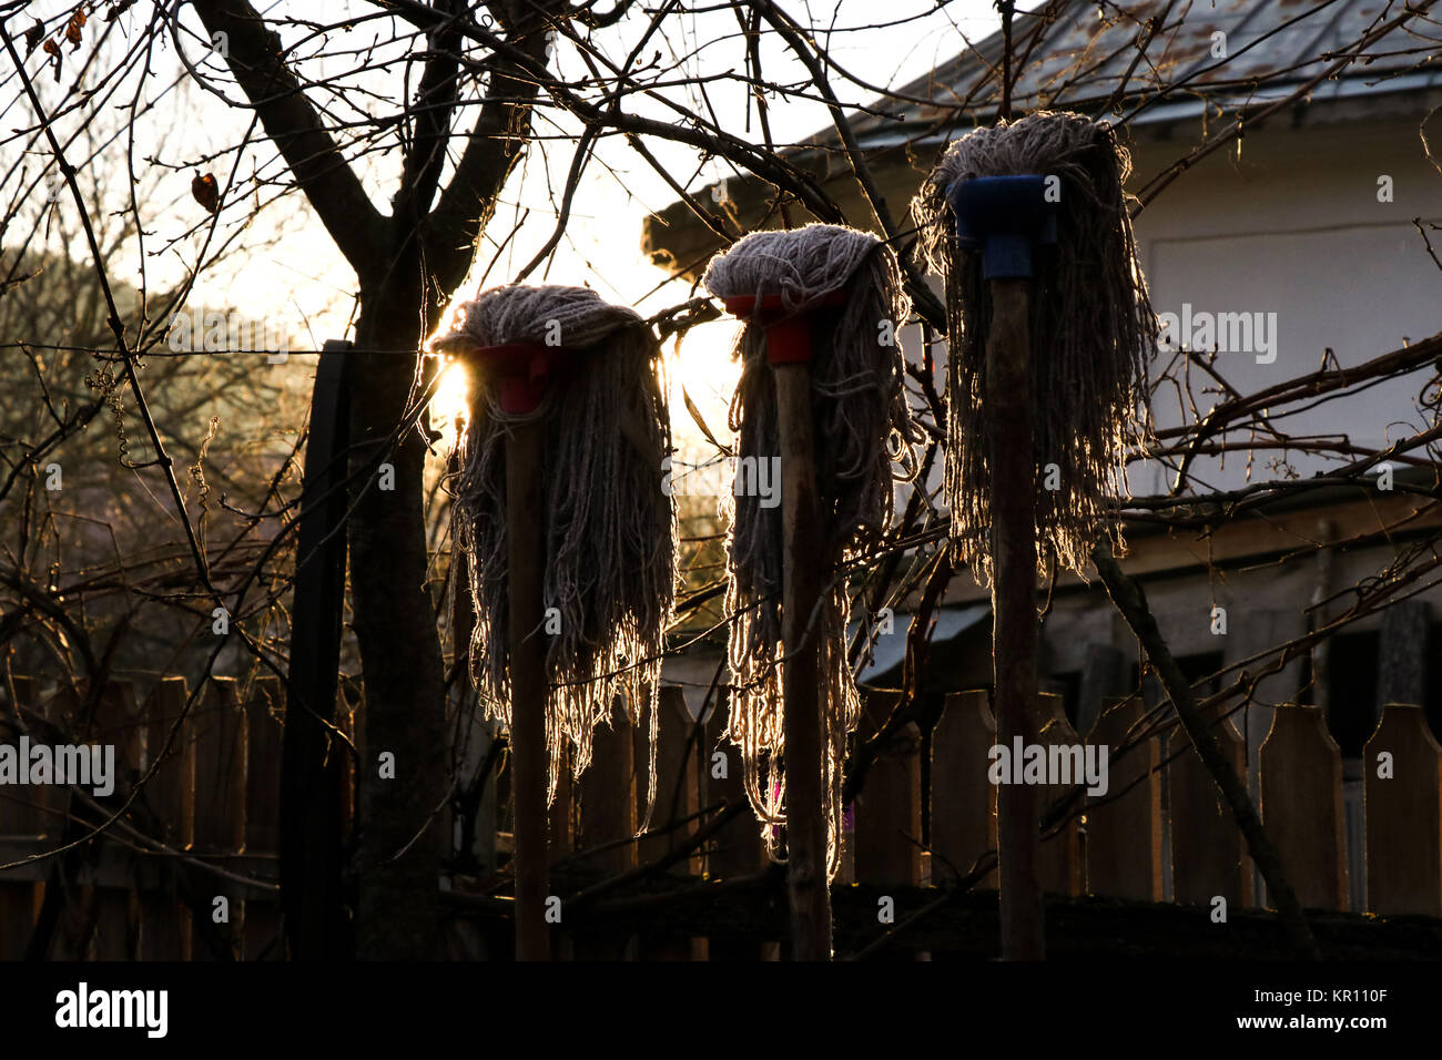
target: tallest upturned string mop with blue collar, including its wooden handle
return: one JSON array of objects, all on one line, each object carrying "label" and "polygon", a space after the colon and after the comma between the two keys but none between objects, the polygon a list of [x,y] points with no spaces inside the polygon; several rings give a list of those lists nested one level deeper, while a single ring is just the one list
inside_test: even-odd
[{"label": "tallest upturned string mop with blue collar, including its wooden handle", "polygon": [[[1156,317],[1129,169],[1109,125],[1037,112],[950,144],[911,205],[919,254],[946,286],[950,541],[992,591],[1007,747],[1038,736],[1038,570],[1082,573],[1107,498],[1125,492],[1128,444],[1146,431]],[[998,792],[998,844],[1002,958],[1040,959],[1035,789]]]}]

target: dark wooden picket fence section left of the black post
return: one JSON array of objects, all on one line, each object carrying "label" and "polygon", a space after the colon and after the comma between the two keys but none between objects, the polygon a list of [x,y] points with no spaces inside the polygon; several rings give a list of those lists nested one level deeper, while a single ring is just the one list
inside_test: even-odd
[{"label": "dark wooden picket fence section left of the black post", "polygon": [[[27,956],[37,935],[49,942],[35,956],[52,959],[260,959],[283,950],[275,847],[284,695],[274,678],[245,692],[242,699],[234,679],[213,679],[172,740],[187,699],[182,678],[157,682],[144,699],[131,682],[114,681],[94,702],[85,689],[42,697],[37,682],[14,679],[32,743],[68,743],[69,734],[114,746],[115,795],[0,786],[0,864],[82,839],[120,811],[167,744],[170,753],[102,836],[0,871],[0,959]],[[14,707],[0,707],[0,743],[17,738]],[[349,711],[340,720],[349,724]]]}]

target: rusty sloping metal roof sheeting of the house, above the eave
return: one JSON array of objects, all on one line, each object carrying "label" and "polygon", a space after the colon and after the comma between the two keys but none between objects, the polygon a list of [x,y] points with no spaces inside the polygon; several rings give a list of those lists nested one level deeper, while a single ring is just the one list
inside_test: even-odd
[{"label": "rusty sloping metal roof sheeting of the house, above the eave", "polygon": [[[1105,14],[1102,13],[1105,10]],[[1133,124],[1200,114],[1203,97],[1227,110],[1272,102],[1295,92],[1337,62],[1338,53],[1403,13],[1387,0],[1142,0],[1097,4],[1061,0],[1018,14],[1014,53],[1024,56],[1012,88],[1017,111],[1038,108],[1100,112],[1119,100],[1149,102]],[[1213,55],[1224,33],[1226,58]],[[1423,36],[1426,33],[1426,36]],[[1136,45],[1145,42],[1138,61]],[[1438,46],[1442,27],[1416,17],[1393,29],[1364,58],[1309,92],[1311,102],[1351,95],[1405,92],[1442,85]],[[864,147],[949,138],[950,130],[986,121],[1001,97],[989,71],[999,62],[1001,33],[940,63],[897,95],[932,102],[891,101],[888,117],[854,115]],[[1030,53],[1030,59],[1027,55]],[[1257,82],[1266,81],[1265,87]],[[833,138],[831,130],[812,143]]]}]

